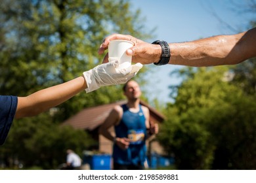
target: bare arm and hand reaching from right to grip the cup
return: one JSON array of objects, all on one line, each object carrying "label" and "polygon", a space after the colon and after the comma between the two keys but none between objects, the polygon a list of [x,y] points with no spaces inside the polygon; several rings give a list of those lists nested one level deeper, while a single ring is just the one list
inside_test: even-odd
[{"label": "bare arm and hand reaching from right to grip the cup", "polygon": [[[158,62],[161,46],[150,44],[131,35],[110,35],[104,39],[98,50],[103,54],[108,43],[114,39],[125,39],[134,42],[135,46],[127,50],[133,56],[133,62],[149,64]],[[169,64],[195,67],[213,65],[233,65],[256,56],[256,28],[236,35],[219,35],[197,41],[169,43],[171,58]],[[107,61],[108,56],[104,58]]]}]

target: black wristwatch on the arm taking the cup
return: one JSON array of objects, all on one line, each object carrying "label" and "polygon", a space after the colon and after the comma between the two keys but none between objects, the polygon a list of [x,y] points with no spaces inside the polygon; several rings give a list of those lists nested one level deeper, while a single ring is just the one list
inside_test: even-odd
[{"label": "black wristwatch on the arm taking the cup", "polygon": [[160,61],[154,63],[154,65],[165,65],[169,63],[169,59],[171,57],[171,51],[169,48],[169,44],[166,41],[158,40],[152,42],[152,44],[160,44],[161,46],[161,58]]}]

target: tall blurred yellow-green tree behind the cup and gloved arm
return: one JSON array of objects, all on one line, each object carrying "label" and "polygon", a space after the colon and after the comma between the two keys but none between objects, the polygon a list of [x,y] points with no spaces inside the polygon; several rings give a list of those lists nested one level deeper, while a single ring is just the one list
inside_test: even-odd
[{"label": "tall blurred yellow-green tree behind the cup and gloved arm", "polygon": [[[149,37],[139,15],[139,10],[131,12],[127,1],[3,0],[1,94],[28,95],[80,76],[101,63],[97,50],[110,33]],[[81,93],[60,105],[56,120],[121,96],[115,86],[88,95]]]}]

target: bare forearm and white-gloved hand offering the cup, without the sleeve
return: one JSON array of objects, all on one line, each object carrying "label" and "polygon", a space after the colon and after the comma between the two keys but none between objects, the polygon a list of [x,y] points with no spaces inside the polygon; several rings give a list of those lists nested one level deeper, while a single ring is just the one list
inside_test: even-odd
[{"label": "bare forearm and white-gloved hand offering the cup, without the sleeve", "polygon": [[40,90],[27,97],[18,97],[15,118],[35,116],[51,107],[64,103],[64,101],[83,90],[92,92],[102,86],[124,84],[135,76],[142,67],[142,65],[131,65],[119,69],[118,66],[118,61],[104,63],[85,71],[83,76],[63,84]]}]

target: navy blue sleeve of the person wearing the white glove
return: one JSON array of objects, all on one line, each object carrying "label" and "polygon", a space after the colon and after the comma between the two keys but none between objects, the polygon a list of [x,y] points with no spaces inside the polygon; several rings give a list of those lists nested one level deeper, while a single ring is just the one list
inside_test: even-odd
[{"label": "navy blue sleeve of the person wearing the white glove", "polygon": [[18,97],[0,95],[0,145],[3,145],[7,139],[17,105]]}]

